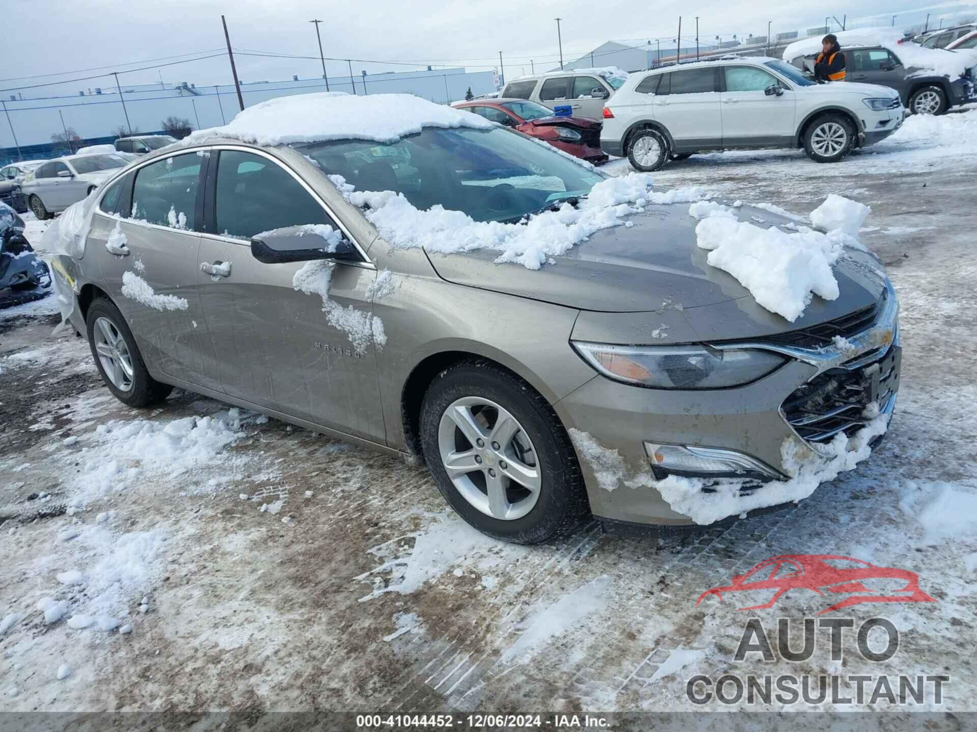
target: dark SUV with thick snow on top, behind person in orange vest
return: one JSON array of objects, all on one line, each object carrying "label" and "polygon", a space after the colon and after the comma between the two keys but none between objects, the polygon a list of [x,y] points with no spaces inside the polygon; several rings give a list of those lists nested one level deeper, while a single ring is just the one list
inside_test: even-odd
[{"label": "dark SUV with thick snow on top, behind person in orange vest", "polygon": [[[845,80],[881,84],[899,92],[916,114],[943,114],[952,106],[977,102],[977,51],[925,48],[893,28],[863,28],[835,33],[845,55]],[[813,70],[821,41],[791,43],[784,60]]]}]

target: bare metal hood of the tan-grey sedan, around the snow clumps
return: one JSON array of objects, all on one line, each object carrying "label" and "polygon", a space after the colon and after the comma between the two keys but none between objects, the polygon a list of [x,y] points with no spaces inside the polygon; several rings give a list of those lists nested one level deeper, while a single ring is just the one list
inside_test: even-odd
[{"label": "bare metal hood of the tan-grey sedan, around the snow clumps", "polygon": [[[788,223],[750,206],[740,209],[740,220]],[[848,250],[834,265],[840,296],[833,301],[815,296],[790,323],[758,305],[732,275],[706,264],[708,252],[697,244],[698,221],[689,216],[687,203],[646,206],[628,221],[634,225],[598,231],[538,270],[494,264],[497,252],[488,250],[429,257],[442,278],[469,287],[602,313],[677,311],[690,324],[698,323],[698,330],[712,331],[703,338],[721,335],[724,319],[731,327],[743,322],[729,338],[815,325],[873,305],[885,287],[881,265],[867,253]],[[713,321],[713,310],[725,314]]]}]

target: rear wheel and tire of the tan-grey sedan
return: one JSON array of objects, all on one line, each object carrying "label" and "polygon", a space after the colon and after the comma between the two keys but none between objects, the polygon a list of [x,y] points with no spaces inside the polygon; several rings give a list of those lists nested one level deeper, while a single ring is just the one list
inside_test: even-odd
[{"label": "rear wheel and tire of the tan-grey sedan", "polygon": [[173,390],[149,376],[136,339],[114,303],[96,300],[88,308],[85,324],[96,368],[116,399],[128,407],[146,407]]}]

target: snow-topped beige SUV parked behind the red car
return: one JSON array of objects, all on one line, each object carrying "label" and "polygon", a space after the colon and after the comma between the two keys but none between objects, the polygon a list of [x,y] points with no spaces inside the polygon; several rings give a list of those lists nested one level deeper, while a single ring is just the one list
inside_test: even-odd
[{"label": "snow-topped beige SUV parked behind the red car", "polygon": [[513,79],[499,95],[506,99],[530,100],[550,109],[571,107],[577,117],[601,119],[604,102],[627,80],[627,71],[616,66],[568,68]]}]

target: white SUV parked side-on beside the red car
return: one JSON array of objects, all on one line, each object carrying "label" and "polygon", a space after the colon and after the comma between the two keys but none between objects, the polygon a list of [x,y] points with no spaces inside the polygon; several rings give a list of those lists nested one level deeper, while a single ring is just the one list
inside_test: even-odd
[{"label": "white SUV parked side-on beside the red car", "polygon": [[637,170],[696,152],[803,147],[841,160],[887,138],[906,109],[894,89],[821,84],[786,61],[724,57],[632,73],[604,106],[601,147]]}]

